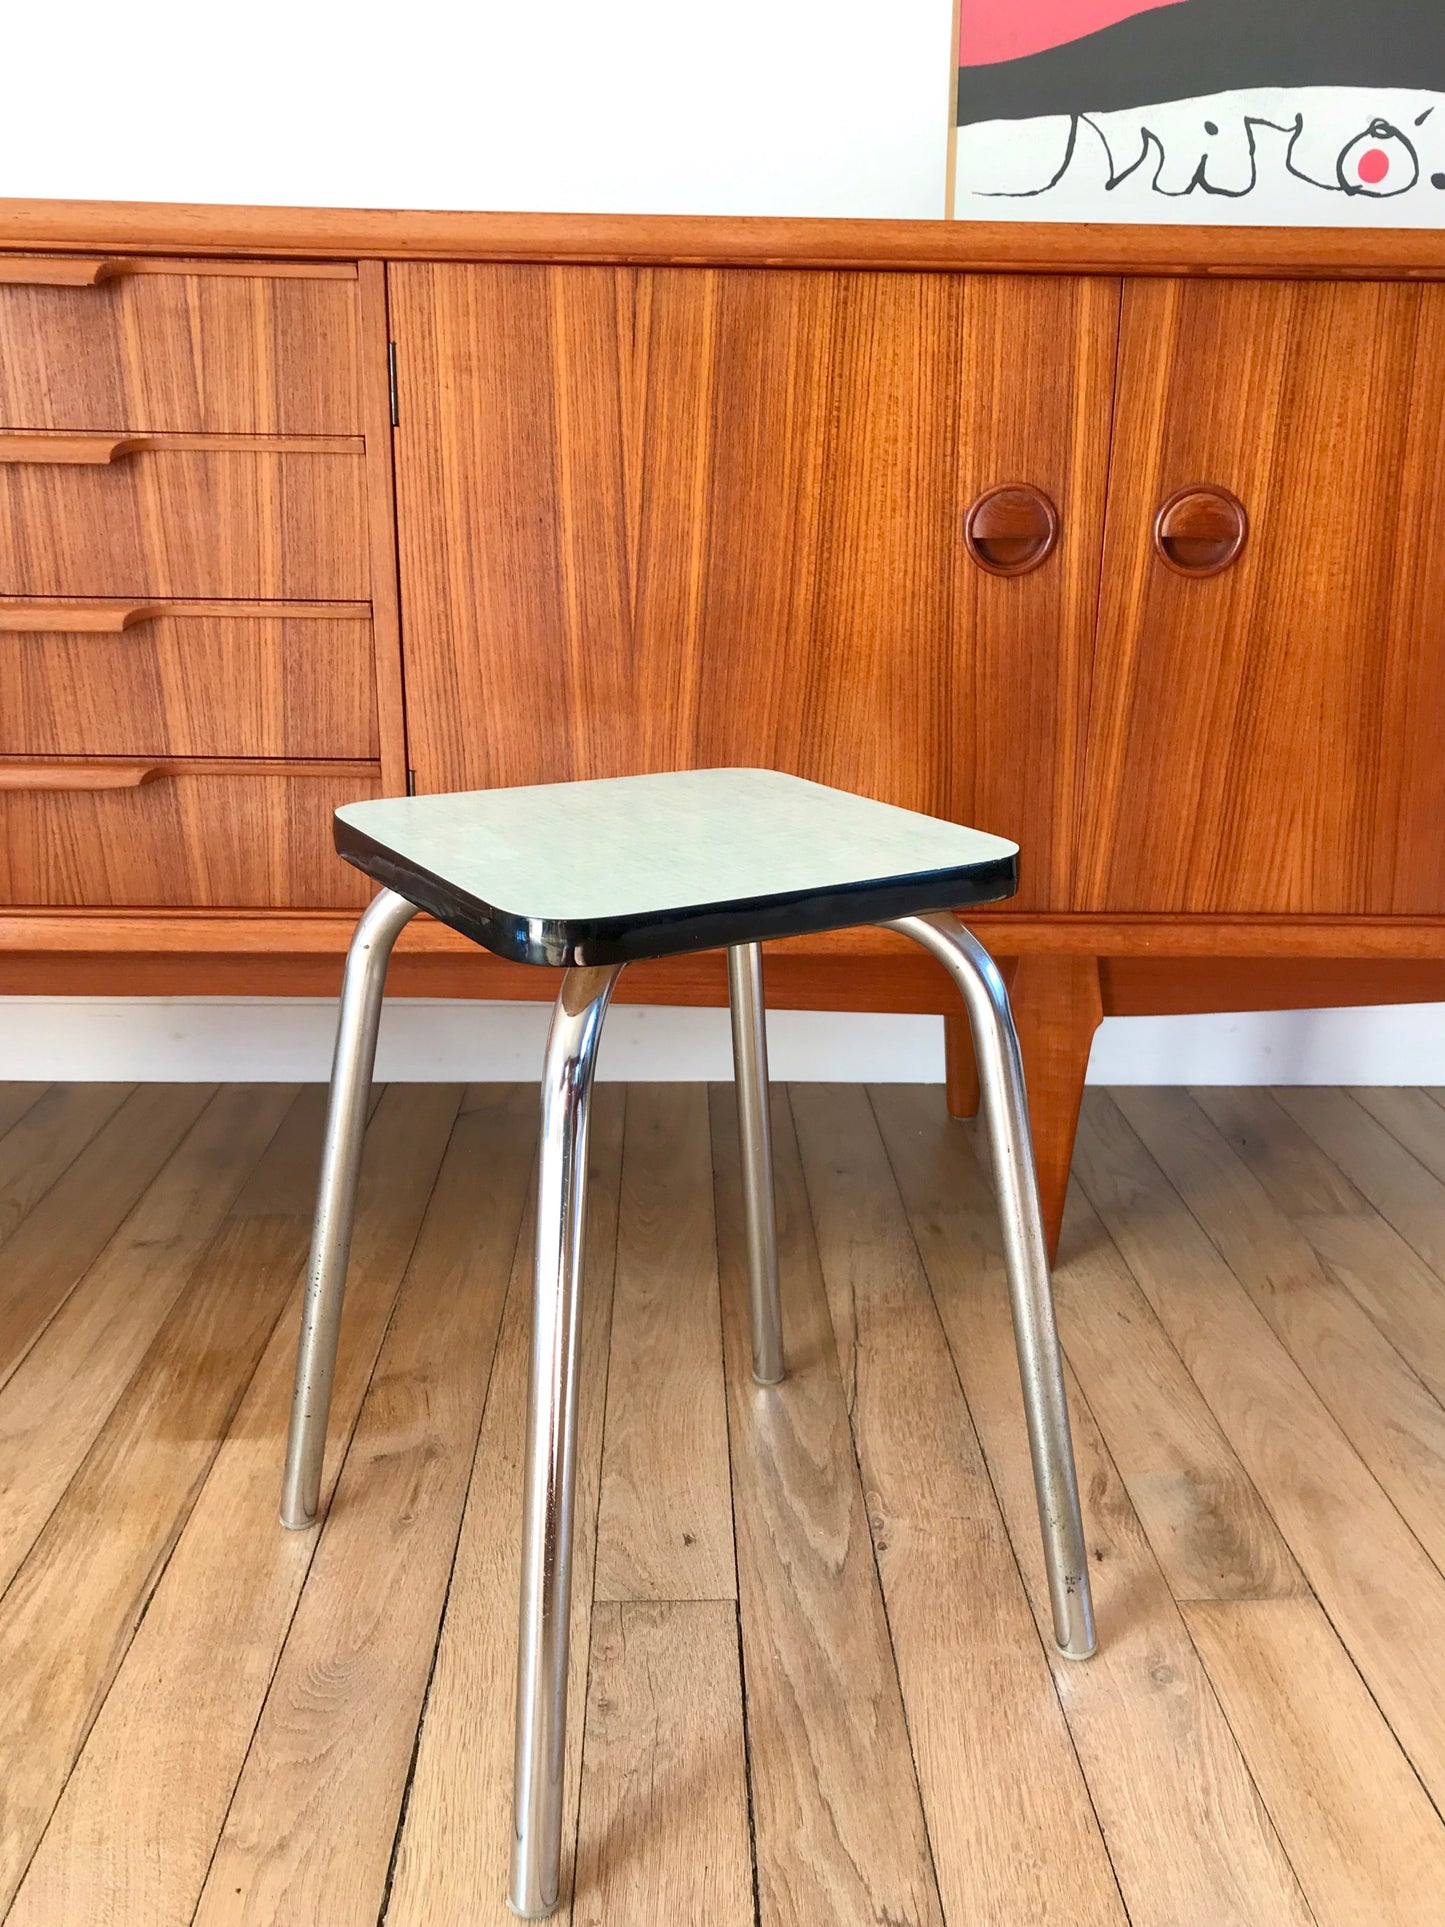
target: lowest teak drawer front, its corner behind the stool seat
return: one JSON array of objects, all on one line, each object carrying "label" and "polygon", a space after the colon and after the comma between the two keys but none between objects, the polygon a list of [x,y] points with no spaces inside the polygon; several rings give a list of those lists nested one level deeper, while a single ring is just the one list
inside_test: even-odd
[{"label": "lowest teak drawer front, its corner behind the stool seat", "polygon": [[[148,779],[148,780],[139,780]],[[94,788],[121,780],[123,788]],[[77,784],[62,788],[58,784]],[[15,786],[19,784],[19,786]],[[335,910],[368,883],[331,846],[372,769],[274,773],[0,763],[0,904],[44,910]]]}]

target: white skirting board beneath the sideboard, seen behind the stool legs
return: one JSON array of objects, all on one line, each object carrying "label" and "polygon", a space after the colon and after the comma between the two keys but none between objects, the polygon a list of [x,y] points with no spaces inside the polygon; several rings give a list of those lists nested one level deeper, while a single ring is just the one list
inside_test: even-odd
[{"label": "white skirting board beneath the sideboard, seen behind the stool legs", "polygon": [[[0,1079],[312,1081],[331,1062],[335,1008],[322,998],[0,998]],[[532,1079],[543,1004],[395,998],[378,1077]],[[942,1017],[778,1010],[776,1079],[938,1083]],[[732,1075],[724,1010],[618,1004],[599,1075],[692,1083]],[[1090,1083],[1445,1085],[1445,1004],[1370,1010],[1108,1017]]]}]

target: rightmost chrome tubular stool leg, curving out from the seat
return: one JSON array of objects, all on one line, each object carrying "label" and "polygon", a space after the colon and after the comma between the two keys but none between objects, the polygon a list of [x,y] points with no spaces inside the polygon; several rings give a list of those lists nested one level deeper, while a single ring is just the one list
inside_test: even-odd
[{"label": "rightmost chrome tubular stool leg, curving out from the seat", "polygon": [[1054,1638],[1067,1659],[1089,1659],[1094,1651],[1089,1553],[1079,1513],[1069,1409],[1064,1397],[1048,1247],[1038,1212],[1023,1060],[1008,990],[994,960],[956,917],[938,911],[925,917],[898,917],[888,927],[911,937],[938,958],[969,1010],[998,1187],[998,1216],[1004,1226],[1004,1262],[1013,1303],[1013,1337],[1019,1349],[1033,1484],[1044,1534]]}]

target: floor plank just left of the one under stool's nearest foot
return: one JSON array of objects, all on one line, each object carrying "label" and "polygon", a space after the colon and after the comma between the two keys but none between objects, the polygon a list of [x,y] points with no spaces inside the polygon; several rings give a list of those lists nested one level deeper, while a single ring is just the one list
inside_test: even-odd
[{"label": "floor plank just left of the one under stool's nearest foot", "polygon": [[518,1096],[474,1093],[447,1145],[197,1921],[381,1910],[532,1166]]}]

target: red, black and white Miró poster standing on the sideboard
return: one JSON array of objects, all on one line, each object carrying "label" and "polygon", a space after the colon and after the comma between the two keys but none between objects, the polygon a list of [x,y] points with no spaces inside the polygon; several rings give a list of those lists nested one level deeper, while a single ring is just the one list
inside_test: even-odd
[{"label": "red, black and white Mir\u00f3 poster standing on the sideboard", "polygon": [[1445,227],[1445,0],[959,0],[959,220]]}]

